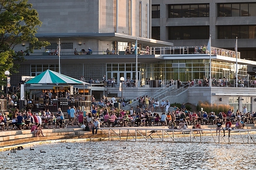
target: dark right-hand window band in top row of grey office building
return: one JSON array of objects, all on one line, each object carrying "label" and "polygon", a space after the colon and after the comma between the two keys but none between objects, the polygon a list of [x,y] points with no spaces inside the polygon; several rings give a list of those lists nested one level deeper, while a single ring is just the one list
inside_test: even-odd
[{"label": "dark right-hand window band in top row of grey office building", "polygon": [[220,3],[218,17],[256,16],[256,3]]}]

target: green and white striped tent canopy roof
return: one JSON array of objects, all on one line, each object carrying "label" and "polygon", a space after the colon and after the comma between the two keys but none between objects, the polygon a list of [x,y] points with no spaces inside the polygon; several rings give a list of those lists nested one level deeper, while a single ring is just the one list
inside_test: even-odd
[{"label": "green and white striped tent canopy roof", "polygon": [[25,84],[90,85],[87,82],[83,82],[51,70],[44,71],[33,79],[27,81]]}]

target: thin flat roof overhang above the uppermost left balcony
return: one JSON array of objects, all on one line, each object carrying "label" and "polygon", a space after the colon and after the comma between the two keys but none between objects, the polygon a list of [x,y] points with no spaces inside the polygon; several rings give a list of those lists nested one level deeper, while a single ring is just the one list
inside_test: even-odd
[{"label": "thin flat roof overhang above the uppermost left balcony", "polygon": [[37,38],[47,38],[48,40],[56,40],[56,37],[61,38],[70,38],[70,39],[97,39],[100,41],[119,41],[119,42],[134,42],[136,39],[138,43],[148,45],[151,47],[157,46],[173,46],[172,42],[165,42],[160,40],[154,40],[144,37],[134,37],[131,35],[120,34],[120,33],[67,33],[67,34],[36,34]]}]

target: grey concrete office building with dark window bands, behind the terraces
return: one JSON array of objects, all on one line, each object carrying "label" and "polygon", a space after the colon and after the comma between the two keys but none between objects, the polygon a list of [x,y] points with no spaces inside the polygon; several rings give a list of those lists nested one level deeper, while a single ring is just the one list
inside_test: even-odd
[{"label": "grey concrete office building with dark window bands, behind the terraces", "polygon": [[[234,50],[256,61],[255,0],[152,0],[152,38],[175,46],[207,45]],[[248,67],[255,75],[256,68]]]}]

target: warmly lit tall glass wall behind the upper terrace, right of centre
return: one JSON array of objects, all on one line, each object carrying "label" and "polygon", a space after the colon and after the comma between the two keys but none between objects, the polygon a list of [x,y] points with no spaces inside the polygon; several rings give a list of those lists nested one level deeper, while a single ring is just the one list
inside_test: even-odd
[{"label": "warmly lit tall glass wall behind the upper terrace, right of centre", "polygon": [[[209,77],[209,59],[167,59],[141,64],[141,79],[180,79],[182,82]],[[212,77],[234,79],[236,63],[212,59]],[[247,65],[238,65],[238,76],[247,75]]]}]

